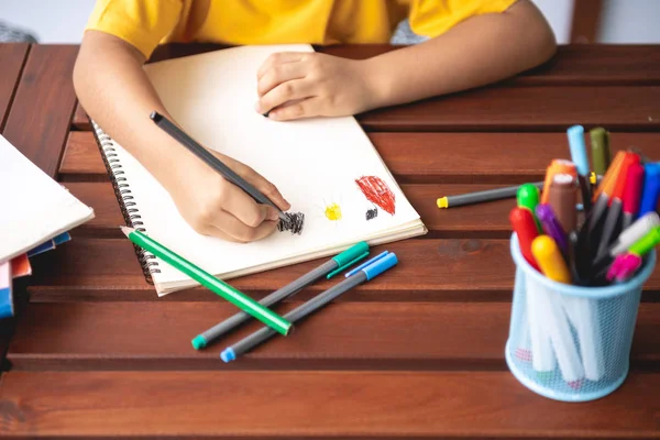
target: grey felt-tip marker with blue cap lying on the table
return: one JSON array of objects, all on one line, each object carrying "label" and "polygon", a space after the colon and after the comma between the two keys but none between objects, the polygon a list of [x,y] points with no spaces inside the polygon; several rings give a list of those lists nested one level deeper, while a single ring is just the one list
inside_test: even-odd
[{"label": "grey felt-tip marker with blue cap lying on the table", "polygon": [[[284,318],[289,322],[299,321],[306,316],[326,306],[328,302],[332,301],[338,296],[345,294],[353,287],[362,283],[369,282],[370,279],[374,279],[376,276],[381,275],[388,268],[395,266],[397,263],[398,260],[396,255],[385,251],[382,254],[362,264],[361,266],[346,273],[346,279],[329,288],[322,294],[315,296],[304,305],[293,309],[292,311],[286,314]],[[265,342],[266,340],[271,339],[275,334],[277,334],[277,332],[271,329],[270,327],[263,327],[261,330],[255,331],[254,333],[242,339],[232,346],[224,349],[220,354],[220,359],[222,359],[222,361],[224,362],[231,362],[241,354],[249,352],[262,342]]]}]

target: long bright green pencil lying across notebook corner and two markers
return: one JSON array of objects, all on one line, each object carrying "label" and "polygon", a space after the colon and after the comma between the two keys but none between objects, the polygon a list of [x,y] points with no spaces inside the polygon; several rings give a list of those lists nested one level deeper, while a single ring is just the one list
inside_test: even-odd
[{"label": "long bright green pencil lying across notebook corner and two markers", "polygon": [[174,268],[177,268],[178,271],[188,275],[190,278],[200,283],[215,294],[220,295],[222,298],[227,299],[240,309],[245,310],[248,314],[252,315],[266,326],[272,327],[273,330],[286,336],[292,328],[292,323],[279,315],[268,310],[254,299],[237,290],[229,284],[216,278],[213,275],[209,274],[202,268],[197,267],[183,256],[172,252],[148,235],[133,228],[127,227],[121,227],[121,231],[129,238],[129,240],[140,248],[156,255],[167,264],[172,265]]}]

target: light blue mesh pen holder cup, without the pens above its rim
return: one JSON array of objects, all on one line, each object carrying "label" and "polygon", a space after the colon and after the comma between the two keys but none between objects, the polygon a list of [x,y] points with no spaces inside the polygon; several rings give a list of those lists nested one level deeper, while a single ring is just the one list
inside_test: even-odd
[{"label": "light blue mesh pen holder cup, without the pens above its rim", "polygon": [[594,400],[617,389],[628,375],[641,288],[656,266],[656,252],[625,283],[582,287],[535,270],[515,233],[510,250],[516,285],[505,354],[514,376],[562,402]]}]

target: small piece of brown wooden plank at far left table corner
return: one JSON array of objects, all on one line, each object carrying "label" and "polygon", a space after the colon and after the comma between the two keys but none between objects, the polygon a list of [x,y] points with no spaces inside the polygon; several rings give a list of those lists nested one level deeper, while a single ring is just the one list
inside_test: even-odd
[{"label": "small piece of brown wooden plank at far left table corner", "polygon": [[0,133],[9,116],[29,51],[28,43],[0,44]]}]

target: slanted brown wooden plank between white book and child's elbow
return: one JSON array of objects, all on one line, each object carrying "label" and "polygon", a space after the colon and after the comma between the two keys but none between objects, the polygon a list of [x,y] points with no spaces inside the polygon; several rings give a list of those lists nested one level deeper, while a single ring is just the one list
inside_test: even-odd
[{"label": "slanted brown wooden plank between white book and child's elbow", "polygon": [[4,136],[46,174],[57,176],[76,105],[72,80],[78,46],[30,51]]}]

